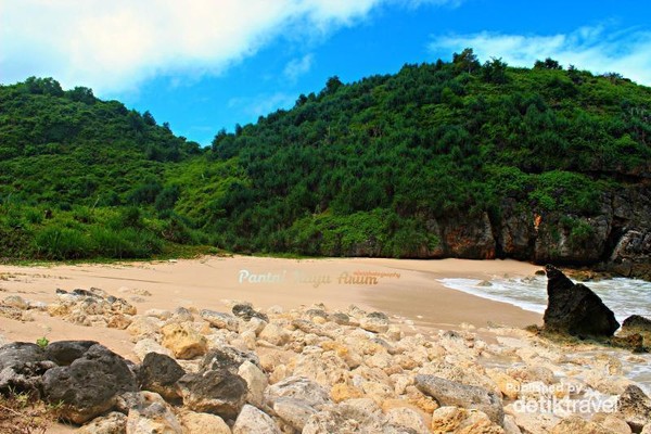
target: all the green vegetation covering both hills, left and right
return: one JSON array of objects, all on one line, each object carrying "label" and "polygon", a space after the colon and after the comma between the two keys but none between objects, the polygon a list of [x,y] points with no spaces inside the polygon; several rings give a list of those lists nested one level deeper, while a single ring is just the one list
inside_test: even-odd
[{"label": "all the green vegetation covering both hills, left and right", "polygon": [[142,257],[170,243],[422,256],[439,242],[432,221],[498,218],[507,197],[566,221],[597,215],[602,192],[649,178],[650,113],[651,89],[617,74],[481,65],[464,50],[333,77],[200,150],[149,113],[31,78],[0,87],[1,256]]}]

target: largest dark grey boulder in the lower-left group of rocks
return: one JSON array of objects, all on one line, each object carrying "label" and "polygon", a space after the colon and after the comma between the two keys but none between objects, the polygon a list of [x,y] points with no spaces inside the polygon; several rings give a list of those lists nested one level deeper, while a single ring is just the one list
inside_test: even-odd
[{"label": "largest dark grey boulder in the lower-left group of rocks", "polygon": [[46,398],[63,403],[62,417],[79,424],[111,410],[117,395],[138,390],[126,360],[99,344],[69,366],[48,370],[42,379]]}]

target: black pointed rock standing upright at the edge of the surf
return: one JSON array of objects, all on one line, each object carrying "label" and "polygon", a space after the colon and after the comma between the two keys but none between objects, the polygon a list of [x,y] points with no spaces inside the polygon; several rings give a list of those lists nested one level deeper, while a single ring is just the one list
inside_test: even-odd
[{"label": "black pointed rock standing upright at the edge of the surf", "polygon": [[589,288],[574,283],[548,265],[545,329],[576,336],[612,336],[620,328],[615,315]]}]

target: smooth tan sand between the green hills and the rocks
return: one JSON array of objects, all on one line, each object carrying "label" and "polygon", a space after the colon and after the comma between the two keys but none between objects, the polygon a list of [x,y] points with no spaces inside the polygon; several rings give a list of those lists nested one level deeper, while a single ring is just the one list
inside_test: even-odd
[{"label": "smooth tan sand between the green hills and the rocks", "polygon": [[[541,323],[538,314],[443,286],[441,278],[503,278],[532,276],[540,267],[515,260],[404,260],[380,258],[283,259],[268,257],[203,257],[171,261],[2,266],[0,299],[20,295],[51,303],[55,290],[91,286],[126,298],[138,312],[178,306],[227,311],[224,299],[284,309],[323,303],[345,310],[357,305],[411,320],[425,329],[449,329],[462,323],[524,327]],[[357,280],[355,280],[357,279]],[[357,282],[357,283],[355,283]],[[139,295],[146,291],[151,295]],[[47,314],[35,321],[0,318],[7,341],[35,342],[97,340],[132,358],[126,331],[71,324]]]}]

